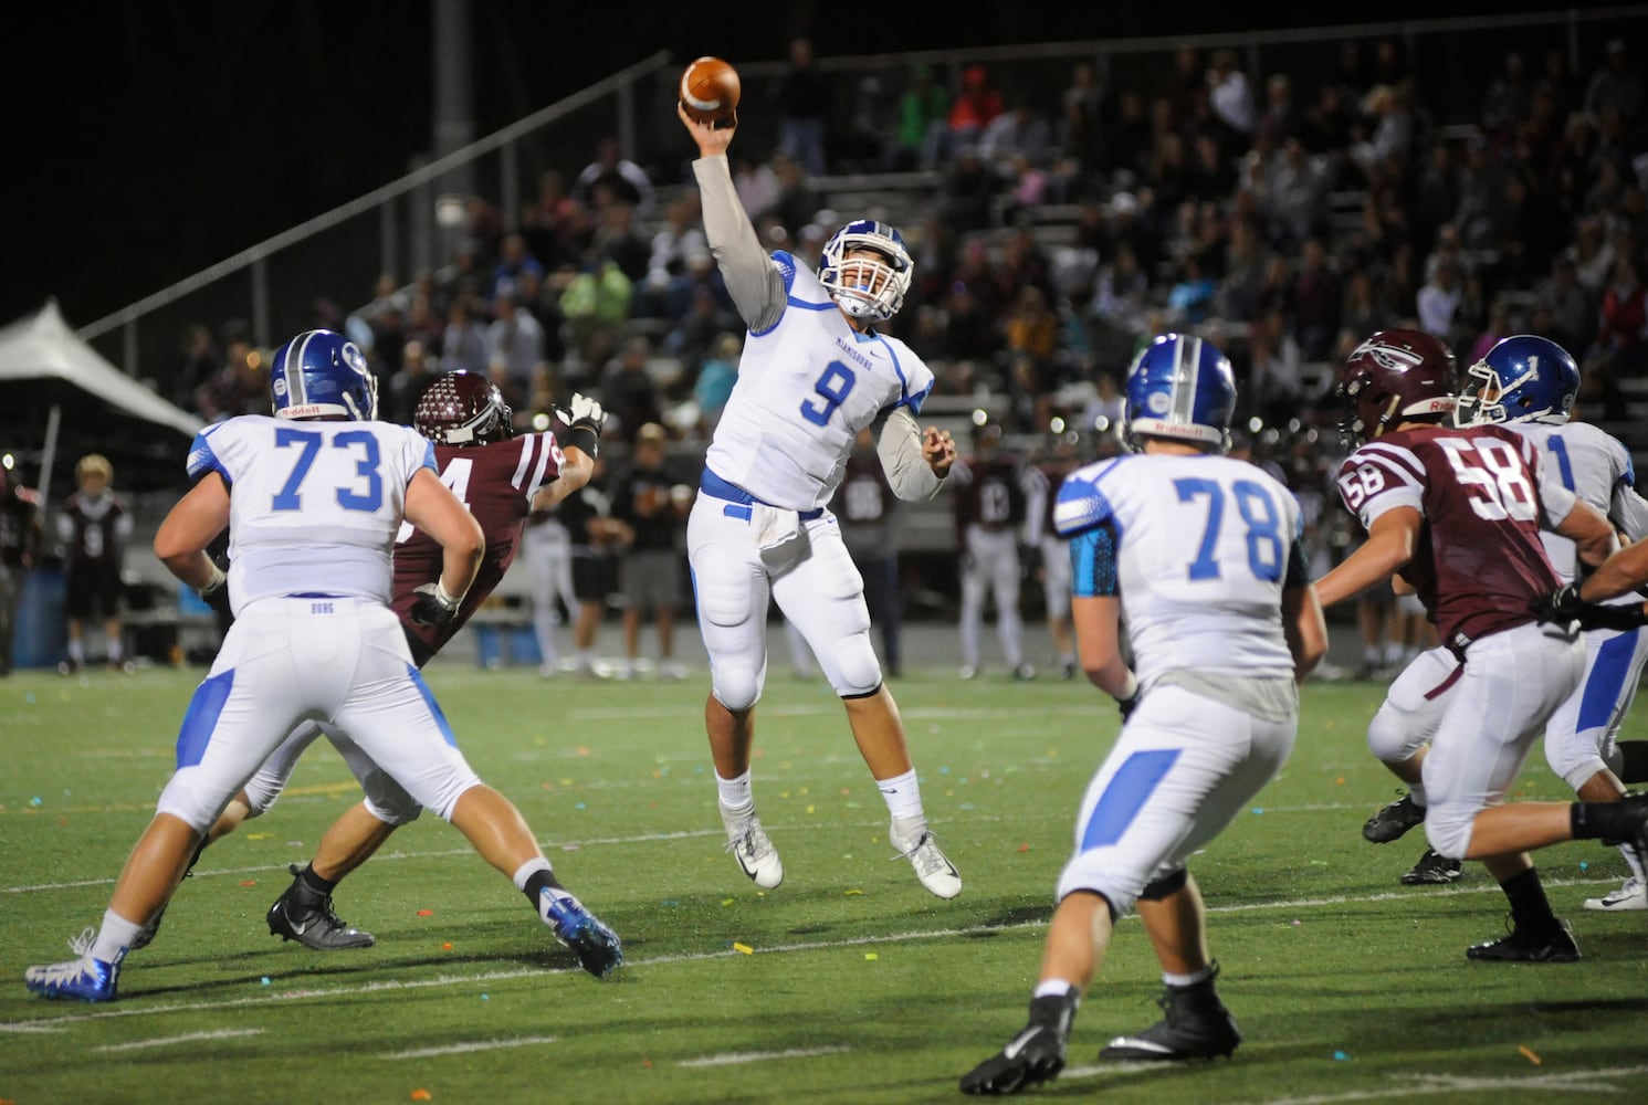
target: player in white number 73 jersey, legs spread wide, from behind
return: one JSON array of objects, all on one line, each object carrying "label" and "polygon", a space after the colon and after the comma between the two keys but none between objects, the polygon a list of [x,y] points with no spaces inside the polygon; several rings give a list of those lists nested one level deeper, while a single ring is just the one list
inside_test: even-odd
[{"label": "player in white number 73 jersey, legs spread wide, from behind", "polygon": [[[229,588],[236,613],[183,716],[178,769],[97,934],[76,949],[79,958],[30,967],[28,988],[112,1001],[122,960],[206,830],[302,721],[346,731],[414,802],[511,876],[585,970],[611,972],[623,962],[618,939],[552,884],[521,814],[465,762],[389,608],[402,520],[442,548],[440,573],[412,601],[412,619],[437,627],[456,616],[481,565],[480,524],[437,478],[428,441],[376,422],[377,382],[354,343],[298,334],[275,352],[270,394],[274,417],[196,435],[194,487],[155,535],[155,555],[178,580],[208,599]],[[204,552],[224,527],[227,578]]]}]

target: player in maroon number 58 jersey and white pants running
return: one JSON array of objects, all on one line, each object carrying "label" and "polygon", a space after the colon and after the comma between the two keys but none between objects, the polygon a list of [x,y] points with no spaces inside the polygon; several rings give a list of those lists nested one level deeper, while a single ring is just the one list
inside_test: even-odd
[{"label": "player in maroon number 58 jersey and white pants running", "polygon": [[1613,529],[1559,479],[1539,479],[1526,438],[1496,425],[1454,428],[1454,354],[1430,334],[1368,338],[1345,362],[1340,397],[1355,451],[1338,487],[1368,540],[1318,580],[1317,594],[1328,606],[1401,573],[1458,660],[1432,692],[1449,702],[1419,764],[1426,837],[1444,856],[1482,860],[1513,921],[1510,935],[1465,955],[1572,962],[1579,945],[1551,912],[1528,850],[1575,838],[1648,843],[1648,799],[1501,802],[1585,664],[1572,626],[1533,613],[1556,588],[1539,529],[1572,539],[1590,565],[1610,552]]}]

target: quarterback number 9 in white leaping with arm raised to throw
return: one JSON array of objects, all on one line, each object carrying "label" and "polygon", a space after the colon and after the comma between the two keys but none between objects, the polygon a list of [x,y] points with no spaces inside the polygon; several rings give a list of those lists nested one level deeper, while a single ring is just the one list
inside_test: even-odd
[{"label": "quarterback number 9 in white leaping with arm raised to throw", "polygon": [[864,581],[826,507],[865,427],[877,431],[900,499],[933,497],[956,461],[949,433],[923,431],[915,418],[933,372],[905,343],[875,329],[910,288],[910,250],[893,227],[855,221],[824,244],[817,275],[786,252],[768,257],[727,166],[737,120],[715,127],[694,122],[681,105],[676,114],[699,148],[692,173],[710,252],[750,328],[687,519],[699,631],[710,657],[704,726],[727,846],[756,886],[783,881],[750,787],[766,606],[776,599],[847,708],[892,815],[888,840],[928,891],[954,898],[961,874],[928,828],[898,705],[870,644]]}]

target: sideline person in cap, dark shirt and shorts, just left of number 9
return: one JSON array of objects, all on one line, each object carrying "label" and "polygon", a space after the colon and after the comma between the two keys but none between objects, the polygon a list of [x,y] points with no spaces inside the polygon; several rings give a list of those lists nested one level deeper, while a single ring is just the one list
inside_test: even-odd
[{"label": "sideline person in cap, dark shirt and shorts, just left of number 9", "polygon": [[620,678],[638,674],[641,621],[648,614],[658,629],[658,670],[666,678],[686,678],[687,669],[674,659],[676,606],[681,603],[681,552],[692,489],[664,468],[669,435],[656,422],[633,433],[634,455],[611,479],[613,517],[631,534],[630,548],[618,563],[623,591],[625,665]]}]

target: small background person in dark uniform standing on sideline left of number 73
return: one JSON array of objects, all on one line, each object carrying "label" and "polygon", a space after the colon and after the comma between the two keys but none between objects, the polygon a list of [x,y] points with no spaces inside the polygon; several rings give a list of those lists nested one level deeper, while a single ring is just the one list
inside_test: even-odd
[{"label": "small background person in dark uniform standing on sideline left of number 73", "polygon": [[58,665],[68,675],[86,665],[86,622],[92,611],[102,614],[109,667],[130,672],[120,641],[120,562],[132,537],[132,514],[114,494],[114,466],[101,453],[87,453],[74,466],[79,491],[58,514],[58,537],[64,547],[69,616],[69,659]]}]

